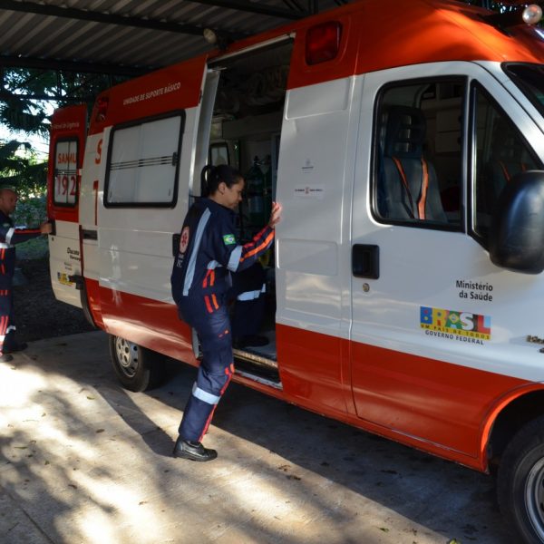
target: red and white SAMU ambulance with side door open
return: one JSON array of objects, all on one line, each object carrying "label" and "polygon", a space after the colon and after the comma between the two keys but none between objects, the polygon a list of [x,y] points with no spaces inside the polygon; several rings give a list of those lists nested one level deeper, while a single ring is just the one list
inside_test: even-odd
[{"label": "red and white SAMU ambulance with side door open", "polygon": [[269,343],[234,379],[496,474],[516,541],[544,542],[544,29],[508,7],[353,2],[54,112],[53,290],[121,384],[199,364],[170,272],[228,163],[241,239],[283,205]]}]

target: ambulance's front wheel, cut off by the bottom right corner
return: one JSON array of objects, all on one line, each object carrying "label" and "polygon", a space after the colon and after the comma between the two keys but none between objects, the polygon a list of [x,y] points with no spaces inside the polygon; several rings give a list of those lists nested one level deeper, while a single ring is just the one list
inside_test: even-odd
[{"label": "ambulance's front wheel, cut off by the bottom right corner", "polygon": [[523,426],[500,460],[500,511],[512,535],[527,544],[544,543],[544,417]]}]

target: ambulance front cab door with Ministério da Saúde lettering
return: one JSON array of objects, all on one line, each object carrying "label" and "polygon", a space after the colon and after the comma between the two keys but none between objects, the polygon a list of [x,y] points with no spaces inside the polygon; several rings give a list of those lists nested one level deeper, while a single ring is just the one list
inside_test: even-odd
[{"label": "ambulance front cab door with Minist\u00e9rio da Sa\u00fade lettering", "polygon": [[[523,305],[539,296],[529,295],[531,277],[491,264],[472,221],[483,215],[500,123],[538,166],[529,138],[520,135],[523,124],[510,120],[530,121],[473,63],[369,73],[364,84],[352,213],[356,413],[404,437],[475,456],[486,400],[500,394],[492,373],[509,359],[521,364],[507,331],[522,321],[530,330]],[[423,190],[408,191],[403,181],[418,187],[415,176],[423,187],[423,162],[424,215]],[[474,202],[479,215],[471,212]],[[520,291],[524,296],[509,295]]]}]

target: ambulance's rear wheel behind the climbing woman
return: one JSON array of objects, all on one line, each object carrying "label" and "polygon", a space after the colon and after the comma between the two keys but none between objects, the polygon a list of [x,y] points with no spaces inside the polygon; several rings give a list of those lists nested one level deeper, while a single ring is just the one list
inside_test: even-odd
[{"label": "ambulance's rear wheel behind the climbing woman", "polygon": [[125,389],[138,393],[162,384],[162,355],[114,335],[110,335],[110,355],[113,370]]}]

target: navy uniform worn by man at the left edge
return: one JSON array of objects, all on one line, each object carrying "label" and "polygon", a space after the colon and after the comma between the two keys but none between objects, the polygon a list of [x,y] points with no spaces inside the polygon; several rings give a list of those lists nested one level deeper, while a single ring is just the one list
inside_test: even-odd
[{"label": "navy uniform worn by man at the left edge", "polygon": [[10,352],[15,344],[15,244],[41,235],[39,228],[15,228],[13,220],[0,211],[0,355]]}]

